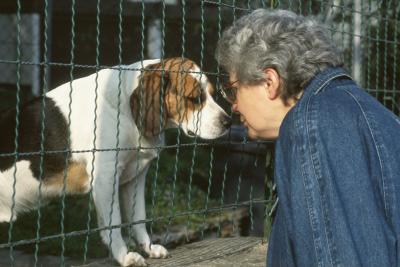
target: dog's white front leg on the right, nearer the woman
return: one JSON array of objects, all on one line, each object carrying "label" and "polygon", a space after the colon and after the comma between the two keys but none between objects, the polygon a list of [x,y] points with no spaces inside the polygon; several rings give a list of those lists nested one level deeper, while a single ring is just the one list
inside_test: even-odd
[{"label": "dog's white front leg on the right, nearer the woman", "polygon": [[[127,184],[121,186],[121,205],[124,222],[139,222],[146,219],[145,184],[149,165]],[[133,224],[133,238],[150,258],[166,258],[168,251],[162,246],[151,244],[146,223]]]}]

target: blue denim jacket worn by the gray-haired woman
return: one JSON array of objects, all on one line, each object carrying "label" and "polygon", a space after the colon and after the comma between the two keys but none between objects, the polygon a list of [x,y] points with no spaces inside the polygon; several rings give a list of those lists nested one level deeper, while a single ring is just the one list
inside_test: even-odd
[{"label": "blue denim jacket worn by the gray-haired woman", "polygon": [[267,266],[400,266],[400,120],[341,68],[282,122]]}]

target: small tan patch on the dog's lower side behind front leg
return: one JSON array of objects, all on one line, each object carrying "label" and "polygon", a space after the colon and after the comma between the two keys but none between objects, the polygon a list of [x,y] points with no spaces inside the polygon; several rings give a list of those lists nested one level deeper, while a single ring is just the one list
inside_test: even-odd
[{"label": "small tan patch on the dog's lower side behind front leg", "polygon": [[78,162],[71,162],[68,165],[67,172],[62,171],[45,180],[45,185],[56,187],[62,190],[64,188],[68,194],[84,194],[89,190],[89,175],[86,172],[86,165]]}]

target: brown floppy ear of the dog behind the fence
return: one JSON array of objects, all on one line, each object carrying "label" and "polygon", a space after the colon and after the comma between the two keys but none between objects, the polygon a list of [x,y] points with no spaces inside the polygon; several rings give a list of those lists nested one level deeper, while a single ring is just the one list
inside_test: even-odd
[{"label": "brown floppy ear of the dog behind the fence", "polygon": [[159,134],[168,118],[164,99],[169,79],[161,67],[161,63],[147,66],[130,98],[132,116],[145,137]]}]

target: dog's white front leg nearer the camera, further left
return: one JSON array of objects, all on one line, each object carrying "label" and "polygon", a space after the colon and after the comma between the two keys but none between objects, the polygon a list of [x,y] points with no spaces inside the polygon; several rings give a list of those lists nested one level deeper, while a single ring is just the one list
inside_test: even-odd
[{"label": "dog's white front leg nearer the camera, further left", "polygon": [[[119,226],[121,212],[118,197],[118,175],[114,178],[113,173],[110,173],[113,168],[102,169],[101,176],[96,177],[93,184],[93,200],[96,205],[98,224],[100,228]],[[111,249],[114,259],[121,266],[146,266],[146,262],[140,254],[128,252],[122,239],[121,228],[106,229],[101,231],[100,235],[103,242]]]}]

